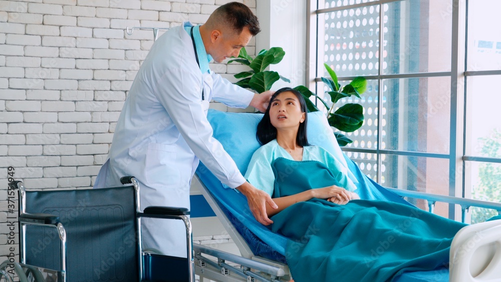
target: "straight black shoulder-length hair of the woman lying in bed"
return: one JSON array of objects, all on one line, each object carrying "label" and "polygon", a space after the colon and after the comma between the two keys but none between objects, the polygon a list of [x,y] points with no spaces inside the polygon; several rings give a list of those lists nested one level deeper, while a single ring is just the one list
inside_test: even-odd
[{"label": "straight black shoulder-length hair of the woman lying in bed", "polygon": [[[258,124],[258,131],[256,132],[256,138],[258,139],[261,145],[265,145],[268,142],[277,138],[277,129],[272,125],[272,122],[270,121],[270,108],[272,106],[273,100],[275,100],[275,98],[283,92],[294,93],[294,95],[296,95],[296,97],[298,98],[299,103],[301,104],[301,112],[303,113],[308,112],[306,108],[305,98],[303,98],[303,95],[301,95],[299,91],[289,87],[284,87],[279,89],[277,92],[275,92],[275,94],[273,94],[272,98],[270,99],[270,104],[266,109],[265,115]],[[305,115],[305,121],[299,124],[298,136],[296,137],[296,143],[302,147],[310,146],[310,144],[308,143],[308,138],[306,137],[307,123],[308,123],[308,114]]]}]

